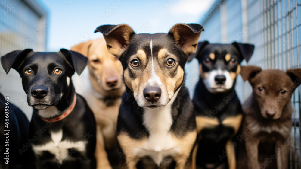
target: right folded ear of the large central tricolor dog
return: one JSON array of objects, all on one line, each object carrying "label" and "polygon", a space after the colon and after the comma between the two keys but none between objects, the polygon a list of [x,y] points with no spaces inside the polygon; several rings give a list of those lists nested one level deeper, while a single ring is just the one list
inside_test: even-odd
[{"label": "right folded ear of the large central tricolor dog", "polygon": [[197,51],[197,42],[204,28],[199,24],[175,24],[170,30],[169,35],[173,37],[175,43],[190,56]]}]

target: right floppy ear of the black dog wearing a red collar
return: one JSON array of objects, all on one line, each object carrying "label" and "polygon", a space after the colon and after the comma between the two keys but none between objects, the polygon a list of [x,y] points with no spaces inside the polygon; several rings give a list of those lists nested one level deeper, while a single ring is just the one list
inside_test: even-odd
[{"label": "right floppy ear of the black dog wearing a red collar", "polygon": [[80,75],[88,63],[88,58],[78,52],[64,48],[60,49],[60,52],[66,56],[70,64],[73,65],[75,72]]}]

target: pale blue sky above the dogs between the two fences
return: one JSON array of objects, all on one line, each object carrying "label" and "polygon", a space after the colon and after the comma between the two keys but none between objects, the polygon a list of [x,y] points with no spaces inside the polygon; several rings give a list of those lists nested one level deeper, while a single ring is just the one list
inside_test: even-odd
[{"label": "pale blue sky above the dogs between the two fences", "polygon": [[[176,23],[198,23],[214,0],[38,0],[48,11],[47,51],[70,49],[103,24],[129,24],[138,33],[167,33]],[[118,3],[119,4],[118,4]]]}]

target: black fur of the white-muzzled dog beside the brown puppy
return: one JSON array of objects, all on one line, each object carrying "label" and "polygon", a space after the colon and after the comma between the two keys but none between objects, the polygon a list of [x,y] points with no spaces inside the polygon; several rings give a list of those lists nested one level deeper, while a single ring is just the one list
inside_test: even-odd
[{"label": "black fur of the white-muzzled dog beside the brown puppy", "polygon": [[[240,62],[243,59],[248,61],[253,54],[254,45],[231,43],[231,44],[210,44],[207,41],[198,43],[197,52],[192,54],[188,62],[193,58],[197,58],[199,64],[202,65],[202,72],[208,73],[212,70],[221,69],[228,72],[236,72]],[[215,59],[210,59],[210,64],[205,64],[204,60],[209,57],[210,53],[215,54]],[[236,64],[229,64],[225,60],[225,55],[230,54],[231,58],[236,60]],[[243,113],[237,93],[234,89],[236,79],[234,79],[232,88],[225,92],[211,93],[205,86],[203,78],[197,83],[193,104],[196,116],[217,118],[219,125],[203,128],[200,133],[201,137],[198,142],[197,150],[197,167],[206,168],[206,164],[214,164],[215,166],[221,163],[227,164],[225,154],[225,145],[231,136],[234,134],[234,129],[221,124],[223,120],[231,116],[237,116]],[[222,104],[222,106],[221,106]],[[233,139],[236,137],[234,136]],[[237,140],[233,140],[238,143]],[[228,168],[228,167],[226,167]]]}]

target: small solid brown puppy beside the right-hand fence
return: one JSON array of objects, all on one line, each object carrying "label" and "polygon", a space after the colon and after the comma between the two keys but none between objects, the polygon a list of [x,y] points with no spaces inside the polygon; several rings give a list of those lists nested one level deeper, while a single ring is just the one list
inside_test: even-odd
[{"label": "small solid brown puppy beside the right-hand fence", "polygon": [[291,97],[300,85],[301,69],[284,72],[245,66],[240,74],[244,81],[249,80],[253,93],[243,104],[245,119],[240,140],[245,148],[240,148],[238,168],[287,169]]}]

